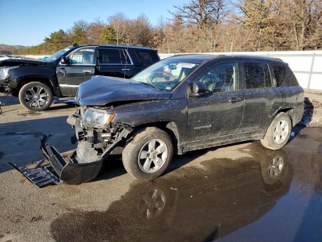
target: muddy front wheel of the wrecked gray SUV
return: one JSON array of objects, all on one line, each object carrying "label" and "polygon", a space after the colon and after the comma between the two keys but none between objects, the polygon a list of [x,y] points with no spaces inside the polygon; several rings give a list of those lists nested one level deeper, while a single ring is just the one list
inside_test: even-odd
[{"label": "muddy front wheel of the wrecked gray SUV", "polygon": [[167,132],[155,127],[138,130],[123,150],[124,168],[139,180],[160,176],[173,156],[173,144]]}]

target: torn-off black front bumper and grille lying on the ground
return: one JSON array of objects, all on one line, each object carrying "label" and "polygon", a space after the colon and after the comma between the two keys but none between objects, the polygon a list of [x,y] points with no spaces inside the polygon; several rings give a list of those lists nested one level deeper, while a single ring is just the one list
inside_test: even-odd
[{"label": "torn-off black front bumper and grille lying on the ground", "polygon": [[44,136],[41,141],[41,150],[50,166],[41,166],[40,161],[34,168],[18,167],[13,163],[13,168],[24,174],[32,183],[38,187],[52,184],[81,184],[94,179],[103,165],[103,158],[93,162],[77,163],[76,151],[67,158],[68,162],[59,154],[54,147],[47,144],[48,137]]}]

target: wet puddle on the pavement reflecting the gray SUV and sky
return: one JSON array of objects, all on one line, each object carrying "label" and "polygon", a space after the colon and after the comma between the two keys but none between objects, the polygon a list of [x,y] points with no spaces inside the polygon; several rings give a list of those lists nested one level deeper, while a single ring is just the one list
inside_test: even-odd
[{"label": "wet puddle on the pavement reflecting the gray SUV and sky", "polygon": [[207,160],[201,162],[205,169],[174,167],[153,181],[134,181],[107,211],[60,215],[51,223],[52,236],[57,241],[321,241],[322,153],[250,147],[251,158]]}]

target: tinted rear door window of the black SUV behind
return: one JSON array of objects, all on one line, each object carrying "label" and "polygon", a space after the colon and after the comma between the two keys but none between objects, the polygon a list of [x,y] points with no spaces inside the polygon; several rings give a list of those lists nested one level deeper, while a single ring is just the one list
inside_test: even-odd
[{"label": "tinted rear door window of the black SUV behind", "polygon": [[100,64],[131,64],[131,61],[123,49],[99,48]]}]

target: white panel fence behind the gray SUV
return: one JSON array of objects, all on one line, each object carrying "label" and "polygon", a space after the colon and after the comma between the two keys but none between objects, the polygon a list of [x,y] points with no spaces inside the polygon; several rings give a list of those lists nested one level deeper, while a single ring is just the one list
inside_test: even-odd
[{"label": "white panel fence behind the gray SUV", "polygon": [[[179,54],[179,53],[177,53]],[[191,53],[196,54],[196,53]],[[200,53],[201,54],[201,53]],[[267,51],[267,52],[213,52],[207,54],[235,54],[277,57],[288,63],[301,87],[322,90],[322,50]],[[160,54],[167,58],[175,54]]]}]

